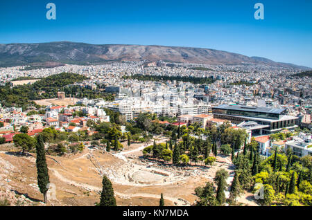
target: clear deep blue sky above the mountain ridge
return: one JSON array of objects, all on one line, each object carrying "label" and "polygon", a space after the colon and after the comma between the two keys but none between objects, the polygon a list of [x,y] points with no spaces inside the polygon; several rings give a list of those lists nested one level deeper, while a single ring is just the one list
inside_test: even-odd
[{"label": "clear deep blue sky above the mountain ridge", "polygon": [[0,44],[193,46],[312,67],[311,10],[311,0],[1,0]]}]

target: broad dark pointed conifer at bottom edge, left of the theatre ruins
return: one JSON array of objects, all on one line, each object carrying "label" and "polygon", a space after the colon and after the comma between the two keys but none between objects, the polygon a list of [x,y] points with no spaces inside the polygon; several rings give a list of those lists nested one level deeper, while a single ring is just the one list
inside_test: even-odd
[{"label": "broad dark pointed conifer at bottom edge, left of the theatre ruins", "polygon": [[103,188],[99,206],[116,206],[116,199],[114,197],[112,182],[105,175],[103,175],[102,184]]}]

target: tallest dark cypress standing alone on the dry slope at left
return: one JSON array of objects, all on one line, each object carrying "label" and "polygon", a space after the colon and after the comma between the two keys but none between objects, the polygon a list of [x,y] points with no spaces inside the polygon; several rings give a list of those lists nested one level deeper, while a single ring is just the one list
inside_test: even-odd
[{"label": "tallest dark cypress standing alone on the dry slope at left", "polygon": [[48,165],[46,165],[46,153],[44,150],[44,141],[42,135],[37,136],[36,143],[36,165],[37,165],[37,181],[40,192],[44,195],[44,203],[47,202],[46,192],[48,192],[47,185],[49,181]]}]

